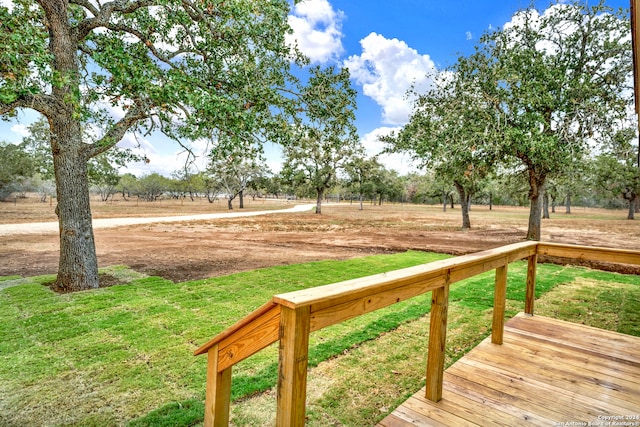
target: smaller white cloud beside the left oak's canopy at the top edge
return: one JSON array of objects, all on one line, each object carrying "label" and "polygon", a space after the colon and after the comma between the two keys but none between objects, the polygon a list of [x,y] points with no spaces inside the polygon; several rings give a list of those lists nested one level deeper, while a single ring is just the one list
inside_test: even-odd
[{"label": "smaller white cloud beside the left oak's canopy at the top edge", "polygon": [[289,25],[293,34],[291,44],[298,47],[312,62],[335,60],[344,52],[342,20],[344,13],[335,11],[328,0],[305,0],[293,8]]}]

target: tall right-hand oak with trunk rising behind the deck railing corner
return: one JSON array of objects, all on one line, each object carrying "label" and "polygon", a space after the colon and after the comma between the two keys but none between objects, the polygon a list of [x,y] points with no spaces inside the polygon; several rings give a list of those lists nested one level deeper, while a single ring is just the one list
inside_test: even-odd
[{"label": "tall right-hand oak with trunk rising behind the deck railing corner", "polygon": [[628,12],[574,1],[517,13],[470,57],[493,108],[486,149],[527,174],[528,239],[540,239],[547,179],[606,144],[628,117],[630,41]]}]

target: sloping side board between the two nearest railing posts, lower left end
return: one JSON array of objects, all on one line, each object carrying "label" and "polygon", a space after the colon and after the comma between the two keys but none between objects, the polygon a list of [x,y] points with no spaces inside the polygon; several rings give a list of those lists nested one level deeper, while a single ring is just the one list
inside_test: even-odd
[{"label": "sloping side board between the two nearest railing posts, lower left end", "polygon": [[273,305],[260,317],[253,319],[219,344],[218,369],[227,369],[252,354],[278,341],[280,329],[280,306]]}]

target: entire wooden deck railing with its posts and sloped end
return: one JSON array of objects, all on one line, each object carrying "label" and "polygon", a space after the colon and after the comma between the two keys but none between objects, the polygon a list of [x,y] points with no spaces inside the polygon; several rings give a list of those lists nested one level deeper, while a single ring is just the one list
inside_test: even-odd
[{"label": "entire wooden deck railing with its posts and sloped end", "polygon": [[523,242],[276,295],[195,351],[195,355],[208,354],[205,426],[229,423],[233,365],[278,340],[276,425],[303,426],[309,334],[429,291],[432,301],[426,397],[439,401],[442,398],[449,286],[486,271],[496,271],[491,341],[502,344],[507,267],[514,261],[528,260],[525,312],[533,315],[538,255],[640,265],[640,251]]}]

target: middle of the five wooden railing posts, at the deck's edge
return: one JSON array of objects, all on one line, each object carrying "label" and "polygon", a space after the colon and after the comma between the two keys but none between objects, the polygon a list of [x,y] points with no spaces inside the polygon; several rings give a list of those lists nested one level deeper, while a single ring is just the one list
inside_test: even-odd
[{"label": "middle of the five wooden railing posts, at the deck's edge", "polygon": [[444,356],[447,342],[447,312],[449,308],[449,275],[444,286],[431,291],[431,322],[429,325],[429,353],[427,354],[427,399],[442,399]]}]

